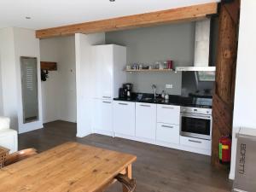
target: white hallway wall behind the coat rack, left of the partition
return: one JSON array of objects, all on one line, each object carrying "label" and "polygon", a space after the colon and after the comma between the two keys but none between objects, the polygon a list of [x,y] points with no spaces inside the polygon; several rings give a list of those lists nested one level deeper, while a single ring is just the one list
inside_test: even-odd
[{"label": "white hallway wall behind the coat rack, left of the partition", "polygon": [[74,36],[40,40],[41,61],[57,62],[42,82],[43,121],[76,122],[76,79]]}]

